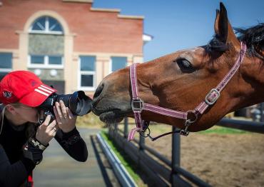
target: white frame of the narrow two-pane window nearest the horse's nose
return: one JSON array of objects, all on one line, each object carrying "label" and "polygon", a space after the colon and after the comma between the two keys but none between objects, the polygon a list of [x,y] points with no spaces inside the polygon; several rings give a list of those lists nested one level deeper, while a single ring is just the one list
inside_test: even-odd
[{"label": "white frame of the narrow two-pane window nearest the horse's nose", "polygon": [[[81,71],[81,56],[94,56],[94,71]],[[93,86],[81,86],[81,76],[82,75],[92,75],[93,76]],[[95,55],[79,55],[78,56],[78,90],[83,91],[96,91],[96,56]]]}]

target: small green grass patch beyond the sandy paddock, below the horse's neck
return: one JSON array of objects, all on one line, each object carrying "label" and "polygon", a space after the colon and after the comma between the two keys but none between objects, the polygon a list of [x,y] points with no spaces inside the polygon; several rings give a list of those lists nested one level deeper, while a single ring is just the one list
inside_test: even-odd
[{"label": "small green grass patch beyond the sandy paddock, below the horse's neck", "polygon": [[236,133],[249,133],[248,131],[242,131],[235,128],[227,128],[223,126],[213,126],[205,131],[200,131],[198,133],[218,133],[218,134],[236,134]]}]

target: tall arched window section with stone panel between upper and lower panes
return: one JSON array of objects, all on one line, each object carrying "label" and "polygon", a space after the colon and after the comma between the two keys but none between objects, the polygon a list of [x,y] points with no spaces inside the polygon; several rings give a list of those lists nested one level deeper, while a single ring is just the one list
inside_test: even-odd
[{"label": "tall arched window section with stone panel between upper and lower panes", "polygon": [[51,16],[41,16],[29,28],[29,61],[32,69],[64,67],[63,27]]}]

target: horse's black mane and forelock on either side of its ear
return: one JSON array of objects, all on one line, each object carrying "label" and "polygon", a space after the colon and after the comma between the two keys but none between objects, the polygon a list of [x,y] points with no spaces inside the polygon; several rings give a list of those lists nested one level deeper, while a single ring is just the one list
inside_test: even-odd
[{"label": "horse's black mane and forelock on either side of its ear", "polygon": [[[263,59],[263,56],[260,56],[258,51],[264,50],[264,23],[260,23],[248,29],[235,28],[235,34],[237,34],[240,41],[245,42],[247,45],[247,54],[249,56],[257,56]],[[211,39],[206,46],[209,54],[213,54],[215,51],[224,52],[228,50],[228,48],[228,45],[220,41],[218,35],[213,36],[213,39]]]}]

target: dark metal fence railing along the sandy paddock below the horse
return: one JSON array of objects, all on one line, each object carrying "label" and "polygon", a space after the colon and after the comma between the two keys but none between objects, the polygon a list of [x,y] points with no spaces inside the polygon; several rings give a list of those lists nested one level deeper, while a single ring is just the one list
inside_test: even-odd
[{"label": "dark metal fence railing along the sandy paddock below the horse", "polygon": [[[216,125],[237,128],[244,131],[264,133],[264,123],[223,118]],[[175,127],[172,129],[176,130]],[[128,119],[124,120],[123,131],[117,128],[109,130],[109,136],[144,171],[155,186],[210,186],[197,176],[181,168],[181,138],[178,133],[172,135],[171,161],[153,148],[145,145],[145,139],[128,142]],[[151,185],[151,184],[150,184]]]}]

